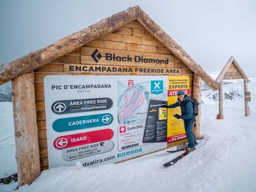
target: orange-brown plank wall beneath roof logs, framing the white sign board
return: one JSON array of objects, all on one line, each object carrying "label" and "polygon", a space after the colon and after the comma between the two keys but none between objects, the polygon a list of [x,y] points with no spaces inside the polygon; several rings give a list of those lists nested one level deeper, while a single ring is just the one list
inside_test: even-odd
[{"label": "orange-brown plank wall beneath roof logs, framing the white sign board", "polygon": [[[40,148],[40,163],[41,170],[48,169],[48,152],[47,152],[47,135],[46,135],[46,118],[45,118],[45,97],[43,88],[43,78],[46,75],[129,75],[129,73],[88,73],[88,72],[69,72],[67,66],[72,65],[97,65],[97,66],[109,66],[109,65],[120,65],[122,62],[105,61],[100,59],[96,64],[92,57],[87,52],[92,52],[98,49],[102,56],[105,51],[111,51],[113,53],[126,53],[130,55],[143,54],[151,55],[158,59],[169,59],[169,64],[145,64],[145,63],[134,63],[130,62],[125,64],[128,66],[139,66],[139,67],[153,67],[155,69],[161,68],[174,68],[179,69],[180,73],[173,75],[189,75],[190,77],[190,95],[192,95],[192,83],[193,73],[187,69],[186,65],[182,64],[176,56],[174,56],[168,49],[164,47],[159,41],[155,40],[148,31],[134,21],[127,24],[125,27],[121,27],[113,33],[109,33],[97,40],[91,41],[85,44],[82,48],[76,49],[65,56],[35,70],[35,100],[36,100],[36,117],[38,125],[38,140]],[[92,54],[92,53],[91,53]],[[121,64],[122,65],[122,64]],[[130,75],[159,75],[148,74],[148,73],[132,73]]]}]

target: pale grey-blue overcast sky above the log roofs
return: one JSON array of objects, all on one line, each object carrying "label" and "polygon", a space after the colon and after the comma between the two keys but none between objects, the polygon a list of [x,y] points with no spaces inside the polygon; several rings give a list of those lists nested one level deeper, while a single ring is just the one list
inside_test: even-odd
[{"label": "pale grey-blue overcast sky above the log roofs", "polygon": [[256,1],[0,1],[0,64],[139,5],[216,78],[234,56],[256,77]]}]

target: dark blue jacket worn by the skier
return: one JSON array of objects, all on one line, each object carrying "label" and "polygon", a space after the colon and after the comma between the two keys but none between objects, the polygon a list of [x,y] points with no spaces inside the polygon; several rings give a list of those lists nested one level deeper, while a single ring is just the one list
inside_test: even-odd
[{"label": "dark blue jacket worn by the skier", "polygon": [[189,96],[185,95],[183,102],[177,101],[176,103],[171,104],[167,107],[175,108],[177,106],[181,106],[181,115],[179,116],[178,119],[195,120],[194,107],[193,107],[192,99]]}]

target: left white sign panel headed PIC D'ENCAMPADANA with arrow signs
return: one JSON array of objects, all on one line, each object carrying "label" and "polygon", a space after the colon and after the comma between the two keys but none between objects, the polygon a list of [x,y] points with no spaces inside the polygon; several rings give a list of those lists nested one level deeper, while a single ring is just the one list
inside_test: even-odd
[{"label": "left white sign panel headed PIC D'ENCAMPADANA with arrow signs", "polygon": [[114,83],[111,76],[45,77],[49,168],[116,162]]}]

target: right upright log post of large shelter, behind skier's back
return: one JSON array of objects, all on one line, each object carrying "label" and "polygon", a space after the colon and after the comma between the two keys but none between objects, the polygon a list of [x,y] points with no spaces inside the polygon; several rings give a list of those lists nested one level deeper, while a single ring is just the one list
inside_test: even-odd
[{"label": "right upright log post of large shelter, behind skier's back", "polygon": [[202,78],[198,75],[194,75],[192,97],[197,99],[197,101],[199,102],[198,115],[197,117],[195,117],[195,127],[194,127],[195,138],[197,138],[197,140],[200,138],[201,83],[202,83]]}]

